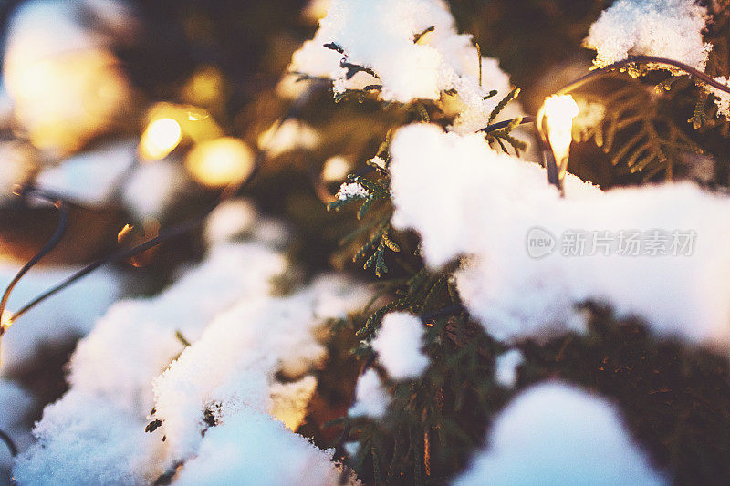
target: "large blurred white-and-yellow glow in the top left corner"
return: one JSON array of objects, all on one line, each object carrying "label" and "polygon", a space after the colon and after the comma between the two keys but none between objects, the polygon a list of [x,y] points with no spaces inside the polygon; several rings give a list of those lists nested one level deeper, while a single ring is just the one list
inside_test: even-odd
[{"label": "large blurred white-and-yellow glow in the top left corner", "polygon": [[110,40],[64,2],[27,2],[12,17],[4,78],[19,129],[41,150],[68,154],[113,129],[131,88]]}]

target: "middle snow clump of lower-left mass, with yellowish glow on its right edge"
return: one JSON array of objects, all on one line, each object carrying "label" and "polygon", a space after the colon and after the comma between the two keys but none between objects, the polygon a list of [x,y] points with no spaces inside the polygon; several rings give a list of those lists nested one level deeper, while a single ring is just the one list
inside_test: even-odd
[{"label": "middle snow clump of lower-left mass, with yellowish glow on its right edge", "polygon": [[[316,327],[365,305],[368,296],[351,281],[327,275],[293,295],[242,301],[218,315],[153,383],[155,417],[163,420],[174,459],[195,453],[210,404],[218,419],[245,406],[273,413],[296,430],[317,385],[308,373],[326,357]],[[291,382],[278,383],[277,374]]]}]

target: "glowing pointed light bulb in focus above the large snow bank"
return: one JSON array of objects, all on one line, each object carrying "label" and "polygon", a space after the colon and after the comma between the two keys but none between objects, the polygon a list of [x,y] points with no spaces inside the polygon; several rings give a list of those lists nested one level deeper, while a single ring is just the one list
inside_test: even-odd
[{"label": "glowing pointed light bulb in focus above the large snow bank", "polygon": [[548,142],[558,169],[558,185],[568,169],[570,142],[573,140],[573,119],[578,116],[578,104],[570,95],[555,95],[545,99],[537,114],[537,129]]}]

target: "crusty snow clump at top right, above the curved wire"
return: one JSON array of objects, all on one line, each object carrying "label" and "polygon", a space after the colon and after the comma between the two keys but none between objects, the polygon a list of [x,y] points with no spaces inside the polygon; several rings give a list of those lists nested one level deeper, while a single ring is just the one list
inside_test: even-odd
[{"label": "crusty snow clump at top right, above the curved wire", "polygon": [[712,49],[703,40],[708,18],[696,0],[617,0],[590,26],[585,45],[596,50],[598,67],[633,54],[669,57],[704,71]]}]

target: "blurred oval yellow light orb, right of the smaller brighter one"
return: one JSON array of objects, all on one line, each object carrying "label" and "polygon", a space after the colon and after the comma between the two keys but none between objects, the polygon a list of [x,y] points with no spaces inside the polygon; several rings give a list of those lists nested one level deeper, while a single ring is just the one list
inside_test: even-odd
[{"label": "blurred oval yellow light orb, right of the smaller brighter one", "polygon": [[185,168],[203,186],[220,188],[244,181],[254,169],[254,154],[242,140],[220,137],[190,150]]}]

